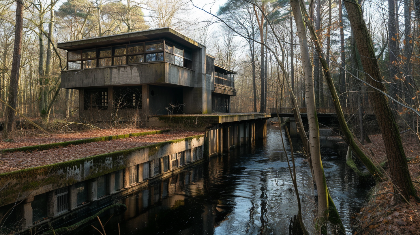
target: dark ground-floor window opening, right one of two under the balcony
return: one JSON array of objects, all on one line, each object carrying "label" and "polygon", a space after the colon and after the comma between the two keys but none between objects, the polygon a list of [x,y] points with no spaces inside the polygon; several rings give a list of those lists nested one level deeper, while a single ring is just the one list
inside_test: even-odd
[{"label": "dark ground-floor window opening, right one of two under the balcony", "polygon": [[115,107],[117,108],[142,108],[142,86],[121,86],[114,88]]}]

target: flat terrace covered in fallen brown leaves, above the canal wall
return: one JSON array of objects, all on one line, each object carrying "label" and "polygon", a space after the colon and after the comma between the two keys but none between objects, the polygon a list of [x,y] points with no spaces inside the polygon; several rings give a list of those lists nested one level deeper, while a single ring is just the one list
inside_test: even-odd
[{"label": "flat terrace covered in fallen brown leaves, above the canal wall", "polygon": [[[163,128],[164,129],[164,128]],[[2,142],[1,148],[12,148],[18,146],[28,146],[34,144],[47,144],[60,141],[69,141],[82,138],[93,138],[99,136],[110,136],[127,133],[137,133],[143,131],[155,131],[156,128],[144,129],[123,129],[123,130],[98,130],[82,133],[57,134],[52,138],[30,138],[16,139],[15,142]],[[151,134],[147,136],[132,136],[110,141],[92,142],[78,145],[68,145],[43,151],[26,151],[3,153],[0,155],[0,173],[14,170],[37,167],[57,162],[65,162],[73,159],[89,157],[92,155],[103,154],[123,149],[130,149],[139,146],[154,144],[163,141],[186,138],[189,136],[201,135],[203,132],[183,131],[180,129],[171,129],[167,133]],[[13,145],[14,144],[14,145]]]}]

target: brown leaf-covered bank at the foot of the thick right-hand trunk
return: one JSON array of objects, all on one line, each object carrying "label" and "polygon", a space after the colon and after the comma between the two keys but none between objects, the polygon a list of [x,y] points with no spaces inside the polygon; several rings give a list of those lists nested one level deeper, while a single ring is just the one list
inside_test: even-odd
[{"label": "brown leaf-covered bank at the foot of the thick right-hand trunk", "polygon": [[[386,153],[381,135],[369,136],[372,143],[362,146],[373,155],[376,162],[386,161]],[[417,195],[420,196],[420,148],[413,136],[402,136],[408,159],[409,171]],[[387,170],[389,175],[389,170]],[[394,201],[394,189],[390,181],[378,183],[370,191],[368,202],[354,215],[357,232],[354,234],[419,234],[420,203],[409,198],[409,204]]]}]

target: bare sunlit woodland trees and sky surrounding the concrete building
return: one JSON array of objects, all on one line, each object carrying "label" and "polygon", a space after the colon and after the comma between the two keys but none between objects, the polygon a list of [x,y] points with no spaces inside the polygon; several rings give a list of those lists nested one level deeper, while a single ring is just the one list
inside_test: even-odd
[{"label": "bare sunlit woodland trees and sky surrounding the concrete building", "polygon": [[[231,112],[294,110],[318,188],[316,229],[344,234],[325,182],[317,110],[335,110],[350,159],[353,152],[375,182],[389,180],[396,202],[420,202],[401,138],[420,146],[419,17],[419,0],[0,0],[3,138],[19,135],[16,119],[49,128],[79,122],[79,91],[61,89],[67,54],[58,42],[171,27],[236,72]],[[361,147],[379,133],[386,170]],[[297,219],[308,234],[300,211]]]}]

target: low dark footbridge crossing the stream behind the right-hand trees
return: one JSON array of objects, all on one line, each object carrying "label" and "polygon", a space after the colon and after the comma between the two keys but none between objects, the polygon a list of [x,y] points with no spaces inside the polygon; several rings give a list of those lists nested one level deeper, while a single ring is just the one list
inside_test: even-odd
[{"label": "low dark footbridge crossing the stream behind the right-hand trees", "polygon": [[[293,117],[291,107],[281,107],[281,108],[270,108],[269,112],[271,114],[271,117],[274,118],[278,115],[280,117]],[[358,111],[359,107],[341,107],[344,114],[352,115],[355,112]],[[299,107],[300,114],[303,116],[307,115],[307,108],[306,107]],[[365,114],[374,114],[372,106],[363,107],[363,111]],[[335,116],[336,115],[336,109],[334,107],[318,107],[316,108],[316,112],[318,116]]]}]

